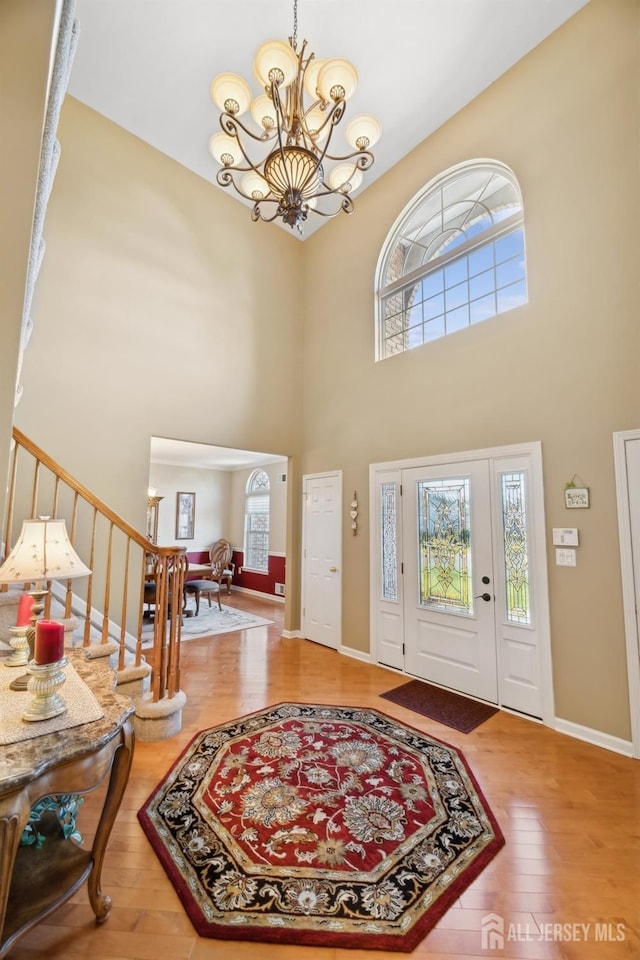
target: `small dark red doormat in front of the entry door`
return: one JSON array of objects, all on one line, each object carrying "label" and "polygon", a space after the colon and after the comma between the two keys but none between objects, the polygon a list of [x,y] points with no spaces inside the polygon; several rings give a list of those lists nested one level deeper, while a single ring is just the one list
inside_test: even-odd
[{"label": "small dark red doormat in front of the entry door", "polygon": [[470,697],[434,687],[422,680],[410,680],[393,690],[381,693],[380,696],[423,717],[429,717],[430,720],[444,723],[460,733],[470,733],[498,712],[497,707],[490,704],[479,703]]}]

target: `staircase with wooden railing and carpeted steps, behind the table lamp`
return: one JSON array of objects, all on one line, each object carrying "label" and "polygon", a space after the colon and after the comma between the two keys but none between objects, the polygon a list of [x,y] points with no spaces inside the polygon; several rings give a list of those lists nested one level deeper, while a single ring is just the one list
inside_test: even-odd
[{"label": "staircase with wooden railing and carpeted steps, behind the table lamp", "polygon": [[[65,646],[108,661],[118,692],[133,700],[138,739],[173,736],[182,727],[186,697],[180,690],[182,605],[170,600],[183,595],[185,548],[150,543],[14,427],[3,557],[22,521],[38,517],[65,520],[72,546],[91,570],[87,577],[44,584],[44,616],[65,624]],[[144,587],[151,579],[153,643],[143,653]],[[0,586],[0,640],[15,623],[20,592],[29,587]]]}]

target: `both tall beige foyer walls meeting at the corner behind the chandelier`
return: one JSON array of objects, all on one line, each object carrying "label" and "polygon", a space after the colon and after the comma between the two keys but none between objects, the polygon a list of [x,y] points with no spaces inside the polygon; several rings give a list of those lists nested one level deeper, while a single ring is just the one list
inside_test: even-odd
[{"label": "both tall beige foyer walls meeting at the corner behind the chandelier", "polygon": [[[343,470],[343,639],[365,652],[369,464],[542,441],[548,531],[574,474],[593,504],[575,570],[549,547],[557,714],[628,738],[611,435],[640,420],[638,54],[635,0],[591,0],[304,244],[68,99],[18,426],[140,529],[153,434],[292,455],[289,629],[301,474]],[[519,178],[529,303],[375,364],[387,232],[473,157]]]}]

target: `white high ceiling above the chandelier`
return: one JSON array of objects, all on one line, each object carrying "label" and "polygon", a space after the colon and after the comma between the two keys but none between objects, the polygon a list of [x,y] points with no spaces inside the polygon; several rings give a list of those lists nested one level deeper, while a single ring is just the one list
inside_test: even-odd
[{"label": "white high ceiling above the chandelier", "polygon": [[[358,193],[587,2],[299,0],[298,40],[359,72],[347,118],[382,123],[356,210]],[[211,80],[231,71],[260,92],[254,54],[293,32],[292,0],[76,0],[76,13],[69,92],[222,189],[208,150],[220,129]],[[324,222],[310,217],[305,236]]]}]

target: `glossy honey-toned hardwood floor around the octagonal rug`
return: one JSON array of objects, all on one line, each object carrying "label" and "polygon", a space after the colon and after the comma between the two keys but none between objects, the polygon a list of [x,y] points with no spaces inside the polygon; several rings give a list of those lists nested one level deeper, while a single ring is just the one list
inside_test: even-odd
[{"label": "glossy honey-toned hardwood floor around the octagonal rug", "polygon": [[[282,639],[280,604],[238,592],[227,601],[274,622],[183,644],[182,686],[188,702],[182,731],[170,740],[136,744],[102,876],[103,890],[113,899],[109,920],[95,926],[83,889],[19,941],[10,960],[407,956],[200,938],[142,833],[139,807],[195,733],[288,700],[374,707],[461,748],[498,818],[506,846],[411,956],[640,957],[638,761],[505,713],[470,734],[457,733],[380,699],[380,693],[402,682],[388,670],[304,640]],[[94,827],[95,808],[94,795],[80,814],[79,827],[86,837]],[[503,919],[505,943],[485,950],[481,924],[490,912]]]}]

